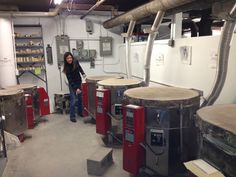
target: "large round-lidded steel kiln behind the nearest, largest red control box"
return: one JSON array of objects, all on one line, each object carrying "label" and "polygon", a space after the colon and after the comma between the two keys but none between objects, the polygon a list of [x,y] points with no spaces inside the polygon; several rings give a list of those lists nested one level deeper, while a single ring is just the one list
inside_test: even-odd
[{"label": "large round-lidded steel kiln behind the nearest, largest red control box", "polygon": [[145,108],[147,169],[168,176],[181,173],[183,162],[197,156],[197,129],[194,114],[199,108],[197,92],[174,87],[129,89],[125,104]]}]

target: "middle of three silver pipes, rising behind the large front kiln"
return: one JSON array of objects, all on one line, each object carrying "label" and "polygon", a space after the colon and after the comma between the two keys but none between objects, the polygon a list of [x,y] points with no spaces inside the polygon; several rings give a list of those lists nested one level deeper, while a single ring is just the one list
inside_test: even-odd
[{"label": "middle of three silver pipes, rising behind the large front kiln", "polygon": [[156,39],[158,28],[161,24],[164,14],[165,12],[163,11],[157,12],[156,18],[153,22],[151,29],[147,31],[149,35],[148,35],[147,47],[145,51],[145,65],[144,65],[144,82],[146,86],[149,86],[149,82],[150,82],[150,65],[151,65],[153,44]]}]

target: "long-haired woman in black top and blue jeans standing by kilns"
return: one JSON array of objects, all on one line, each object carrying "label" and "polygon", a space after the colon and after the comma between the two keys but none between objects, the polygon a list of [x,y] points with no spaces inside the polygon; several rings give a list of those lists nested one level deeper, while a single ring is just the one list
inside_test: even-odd
[{"label": "long-haired woman in black top and blue jeans standing by kilns", "polygon": [[70,90],[70,120],[71,122],[76,122],[75,115],[75,99],[78,98],[78,115],[83,117],[83,106],[82,106],[82,91],[81,83],[82,79],[80,74],[85,78],[86,75],[80,66],[79,62],[74,59],[72,53],[66,52],[64,54],[64,69],[63,72],[69,82]]}]

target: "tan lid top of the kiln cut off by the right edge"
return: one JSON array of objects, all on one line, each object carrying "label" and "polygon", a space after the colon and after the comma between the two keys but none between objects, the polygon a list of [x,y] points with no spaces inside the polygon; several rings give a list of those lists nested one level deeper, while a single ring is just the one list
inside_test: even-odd
[{"label": "tan lid top of the kiln cut off by the right edge", "polygon": [[208,106],[198,110],[197,116],[204,122],[236,134],[236,104]]}]

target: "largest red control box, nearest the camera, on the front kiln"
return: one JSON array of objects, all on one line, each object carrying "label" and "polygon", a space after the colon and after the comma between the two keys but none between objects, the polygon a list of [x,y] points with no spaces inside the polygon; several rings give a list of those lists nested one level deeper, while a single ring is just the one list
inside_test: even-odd
[{"label": "largest red control box, nearest the camera, on the front kiln", "polygon": [[140,145],[145,136],[144,107],[126,105],[123,108],[123,169],[137,175],[145,162],[145,150]]}]

